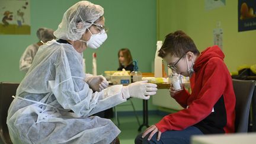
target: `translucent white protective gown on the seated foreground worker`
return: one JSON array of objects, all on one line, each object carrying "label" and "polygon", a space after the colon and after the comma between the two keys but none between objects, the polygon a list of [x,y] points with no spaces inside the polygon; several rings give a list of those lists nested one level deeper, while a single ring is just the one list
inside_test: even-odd
[{"label": "translucent white protective gown on the seated foreground worker", "polygon": [[8,110],[13,143],[105,144],[119,135],[111,120],[91,115],[126,101],[123,86],[93,93],[82,62],[70,44],[52,40],[40,47]]}]

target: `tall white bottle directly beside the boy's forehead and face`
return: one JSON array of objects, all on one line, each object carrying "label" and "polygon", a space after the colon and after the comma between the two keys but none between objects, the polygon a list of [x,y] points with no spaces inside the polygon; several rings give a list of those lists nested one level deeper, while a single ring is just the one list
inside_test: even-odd
[{"label": "tall white bottle directly beside the boy's forehead and face", "polygon": [[162,78],[162,58],[158,56],[158,51],[162,47],[162,41],[157,41],[156,43],[156,53],[155,53],[155,78]]}]

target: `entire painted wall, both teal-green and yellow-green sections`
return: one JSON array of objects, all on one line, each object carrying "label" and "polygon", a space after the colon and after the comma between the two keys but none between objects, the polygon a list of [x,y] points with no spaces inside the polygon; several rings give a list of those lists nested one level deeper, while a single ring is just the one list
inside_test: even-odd
[{"label": "entire painted wall, both teal-green and yellow-green sections", "polygon": [[[25,48],[37,41],[36,30],[49,27],[56,30],[63,13],[77,1],[31,0],[31,35],[0,35],[0,81],[20,82],[24,73],[18,69]],[[116,70],[117,51],[128,47],[133,59],[139,61],[142,72],[152,71],[156,39],[184,30],[192,37],[199,50],[213,45],[213,28],[218,21],[223,28],[223,52],[230,71],[240,65],[256,62],[256,31],[238,33],[238,1],[227,0],[226,6],[206,11],[204,0],[98,0],[92,1],[105,9],[108,39],[98,50],[87,49],[84,57],[87,72],[91,73],[92,53],[97,53],[98,74]],[[1,4],[0,4],[1,5]],[[156,25],[157,23],[157,25]],[[136,110],[142,110],[142,101],[134,99]],[[119,108],[131,110],[130,107]],[[149,101],[149,110],[155,107]]]}]

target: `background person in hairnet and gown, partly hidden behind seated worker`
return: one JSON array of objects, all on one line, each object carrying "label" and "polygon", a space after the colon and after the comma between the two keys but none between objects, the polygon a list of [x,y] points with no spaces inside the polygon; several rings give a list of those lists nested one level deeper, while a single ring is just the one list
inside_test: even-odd
[{"label": "background person in hairnet and gown, partly hidden behind seated worker", "polygon": [[34,56],[39,49],[39,46],[43,45],[47,41],[55,39],[53,35],[53,30],[50,28],[41,27],[37,30],[37,37],[39,41],[37,43],[31,44],[25,49],[25,52],[20,58],[20,71],[27,72],[30,68]]}]

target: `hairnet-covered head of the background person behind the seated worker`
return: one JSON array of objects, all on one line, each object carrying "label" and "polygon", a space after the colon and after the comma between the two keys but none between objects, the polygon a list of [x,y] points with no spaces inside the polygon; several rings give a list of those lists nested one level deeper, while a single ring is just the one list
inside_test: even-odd
[{"label": "hairnet-covered head of the background person behind the seated worker", "polygon": [[55,36],[53,35],[53,30],[51,28],[45,28],[41,27],[37,30],[37,37],[39,40],[46,43],[47,41],[55,39]]}]

